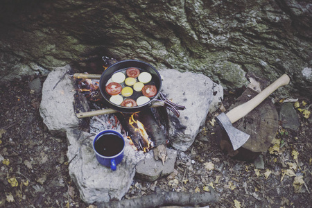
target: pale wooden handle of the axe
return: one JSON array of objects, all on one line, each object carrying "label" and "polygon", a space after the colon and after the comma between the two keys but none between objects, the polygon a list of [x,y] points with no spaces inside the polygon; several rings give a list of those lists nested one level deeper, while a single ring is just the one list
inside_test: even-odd
[{"label": "pale wooden handle of the axe", "polygon": [[227,112],[227,117],[231,123],[238,121],[239,119],[243,118],[243,116],[247,115],[250,111],[252,111],[255,107],[257,107],[264,99],[266,99],[272,92],[281,86],[287,85],[289,83],[289,76],[287,74],[283,74],[280,78],[275,80],[274,83],[263,89],[262,92],[257,94],[254,98],[250,101],[243,103],[237,107],[234,107],[232,110]]}]

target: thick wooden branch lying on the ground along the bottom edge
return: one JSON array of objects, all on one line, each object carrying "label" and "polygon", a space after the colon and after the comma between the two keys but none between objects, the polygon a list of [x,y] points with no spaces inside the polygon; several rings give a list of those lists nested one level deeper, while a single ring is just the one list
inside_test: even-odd
[{"label": "thick wooden branch lying on the ground along the bottom edge", "polygon": [[[211,188],[212,189],[212,188]],[[213,190],[213,189],[212,189]],[[160,207],[164,205],[176,206],[207,206],[214,202],[218,202],[218,196],[215,192],[205,193],[189,193],[189,192],[167,192],[161,191],[158,187],[155,193],[140,198],[130,200],[103,202],[97,205],[98,208],[118,208],[118,207]]]}]

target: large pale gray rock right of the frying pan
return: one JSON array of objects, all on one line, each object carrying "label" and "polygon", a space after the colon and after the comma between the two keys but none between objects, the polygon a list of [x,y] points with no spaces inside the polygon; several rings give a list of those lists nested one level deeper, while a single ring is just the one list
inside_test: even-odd
[{"label": "large pale gray rock right of the frying pan", "polygon": [[168,134],[173,148],[187,150],[202,130],[212,101],[215,109],[223,98],[223,88],[198,73],[182,73],[175,69],[161,70],[159,73],[163,79],[162,93],[172,99],[173,103],[186,107],[180,111],[179,118],[167,111],[170,117]]}]

